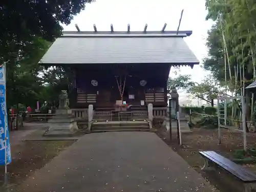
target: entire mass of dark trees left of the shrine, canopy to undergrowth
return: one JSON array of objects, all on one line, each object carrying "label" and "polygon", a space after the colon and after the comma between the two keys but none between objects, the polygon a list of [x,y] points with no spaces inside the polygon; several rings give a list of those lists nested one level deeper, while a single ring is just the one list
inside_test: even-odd
[{"label": "entire mass of dark trees left of the shrine, canopy to undergrowth", "polygon": [[38,65],[53,41],[93,0],[3,1],[0,3],[0,63],[7,62],[7,107],[58,102],[70,86],[70,70]]}]

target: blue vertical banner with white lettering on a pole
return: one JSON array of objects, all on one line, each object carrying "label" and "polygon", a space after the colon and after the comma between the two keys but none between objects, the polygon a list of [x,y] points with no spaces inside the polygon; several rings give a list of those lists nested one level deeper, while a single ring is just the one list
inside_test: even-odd
[{"label": "blue vertical banner with white lettering on a pole", "polygon": [[6,165],[12,159],[7,122],[5,66],[0,66],[0,106],[0,165]]}]

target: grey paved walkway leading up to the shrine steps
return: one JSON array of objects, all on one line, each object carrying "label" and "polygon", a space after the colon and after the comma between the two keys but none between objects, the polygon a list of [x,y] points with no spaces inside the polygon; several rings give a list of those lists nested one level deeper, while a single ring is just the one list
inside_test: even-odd
[{"label": "grey paved walkway leading up to the shrine steps", "polygon": [[212,191],[212,187],[148,132],[84,135],[16,191]]}]

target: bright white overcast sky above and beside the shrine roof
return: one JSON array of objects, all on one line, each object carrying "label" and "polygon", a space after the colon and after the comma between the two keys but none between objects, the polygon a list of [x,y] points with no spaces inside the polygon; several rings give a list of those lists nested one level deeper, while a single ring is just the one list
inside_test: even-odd
[{"label": "bright white overcast sky above and beside the shrine roof", "polygon": [[[96,0],[87,4],[69,26],[63,27],[65,31],[74,31],[78,24],[81,31],[93,31],[93,24],[96,24],[98,31],[110,31],[110,24],[113,24],[115,31],[126,31],[130,24],[131,31],[142,31],[147,24],[147,31],[160,31],[167,23],[165,30],[177,30],[182,9],[180,30],[193,31],[185,41],[201,62],[207,55],[207,30],[213,24],[205,21],[205,0]],[[180,73],[191,74],[194,81],[200,81],[207,74],[200,66],[193,70],[182,67]]]}]

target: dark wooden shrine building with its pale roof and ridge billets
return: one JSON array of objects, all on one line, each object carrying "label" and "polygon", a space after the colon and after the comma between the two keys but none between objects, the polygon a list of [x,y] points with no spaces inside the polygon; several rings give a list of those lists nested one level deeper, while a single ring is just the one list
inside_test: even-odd
[{"label": "dark wooden shrine building with its pale roof and ridge billets", "polygon": [[[146,109],[167,106],[172,66],[199,64],[184,38],[192,31],[64,31],[44,57],[44,66],[70,68],[71,109],[114,110],[116,105]],[[145,26],[146,28],[146,26]]]}]

